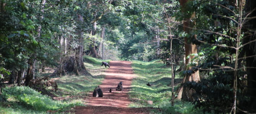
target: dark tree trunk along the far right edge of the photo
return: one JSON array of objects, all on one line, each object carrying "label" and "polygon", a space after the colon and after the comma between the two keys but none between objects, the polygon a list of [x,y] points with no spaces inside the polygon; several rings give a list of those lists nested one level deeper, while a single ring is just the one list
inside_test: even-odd
[{"label": "dark tree trunk along the far right edge of the photo", "polygon": [[[256,39],[256,0],[246,0],[245,5],[245,16],[248,13],[251,13],[248,18],[254,17],[252,19],[246,20],[246,24],[243,26],[245,30],[245,38],[244,43],[248,43]],[[253,12],[252,12],[253,11]],[[248,95],[250,97],[250,103],[248,107],[250,107],[251,111],[256,111],[256,41],[251,42],[244,46],[245,54],[246,54],[246,73],[247,73],[247,81],[248,81]]]}]

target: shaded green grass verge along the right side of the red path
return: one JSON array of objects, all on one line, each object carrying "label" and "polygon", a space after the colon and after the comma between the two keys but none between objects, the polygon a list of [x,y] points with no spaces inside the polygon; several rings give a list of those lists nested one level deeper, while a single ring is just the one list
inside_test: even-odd
[{"label": "shaded green grass verge along the right side of the red path", "polygon": [[[194,109],[189,102],[175,100],[175,105],[171,106],[171,68],[166,67],[160,60],[151,62],[133,61],[132,68],[136,74],[136,78],[132,82],[132,90],[129,92],[130,99],[133,100],[129,106],[138,107],[153,107],[160,108],[161,111],[153,113],[163,114],[201,114],[199,109]],[[175,76],[175,87],[177,90],[178,84],[182,81],[177,73]],[[147,82],[152,84],[147,86]],[[153,105],[147,101],[153,101]]]}]

